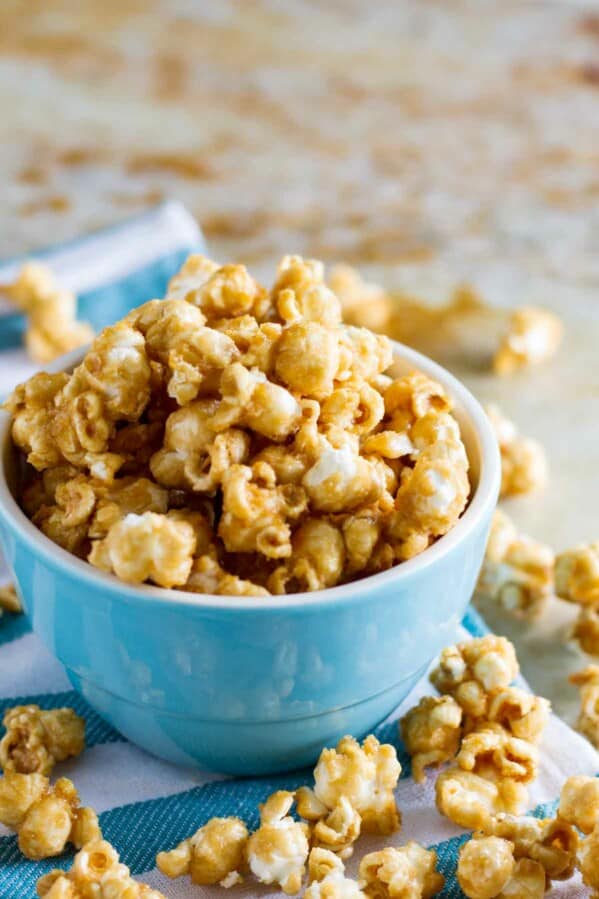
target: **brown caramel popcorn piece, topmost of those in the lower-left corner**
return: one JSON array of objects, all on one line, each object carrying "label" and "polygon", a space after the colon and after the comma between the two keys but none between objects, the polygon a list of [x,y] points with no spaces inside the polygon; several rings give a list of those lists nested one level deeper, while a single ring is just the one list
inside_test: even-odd
[{"label": "brown caramel popcorn piece, topmost of those in the lower-left corner", "polygon": [[0,768],[20,774],[50,774],[57,762],[85,748],[85,721],[73,709],[43,711],[37,705],[8,709],[0,740]]}]

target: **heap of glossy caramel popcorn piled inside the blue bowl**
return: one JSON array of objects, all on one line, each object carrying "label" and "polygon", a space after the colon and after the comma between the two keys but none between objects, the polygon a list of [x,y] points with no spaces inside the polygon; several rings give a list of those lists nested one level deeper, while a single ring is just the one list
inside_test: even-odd
[{"label": "heap of glossy caramel popcorn piled inside the blue bowl", "polygon": [[27,514],[123,580],[202,593],[317,590],[422,552],[470,492],[451,401],[340,321],[318,262],[285,257],[269,292],[191,256],[71,375],[9,399]]}]

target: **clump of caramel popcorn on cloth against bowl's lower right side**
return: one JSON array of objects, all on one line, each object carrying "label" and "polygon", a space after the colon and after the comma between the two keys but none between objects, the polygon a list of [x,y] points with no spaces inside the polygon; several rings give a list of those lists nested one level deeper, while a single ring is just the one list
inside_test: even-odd
[{"label": "clump of caramel popcorn on cloth against bowl's lower right side", "polygon": [[502,812],[519,813],[537,775],[539,742],[549,703],[510,686],[518,673],[512,644],[488,635],[441,653],[431,681],[443,695],[427,696],[401,720],[414,780],[455,759],[436,782],[441,814],[482,828]]}]

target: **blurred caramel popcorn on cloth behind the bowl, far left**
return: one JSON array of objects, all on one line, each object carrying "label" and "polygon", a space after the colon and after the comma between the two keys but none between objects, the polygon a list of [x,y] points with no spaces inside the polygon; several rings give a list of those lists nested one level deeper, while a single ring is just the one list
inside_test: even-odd
[{"label": "blurred caramel popcorn on cloth behind the bowl, far left", "polygon": [[75,296],[41,263],[26,263],[16,281],[1,289],[27,316],[25,346],[35,362],[50,362],[93,339],[91,325],[75,318]]}]

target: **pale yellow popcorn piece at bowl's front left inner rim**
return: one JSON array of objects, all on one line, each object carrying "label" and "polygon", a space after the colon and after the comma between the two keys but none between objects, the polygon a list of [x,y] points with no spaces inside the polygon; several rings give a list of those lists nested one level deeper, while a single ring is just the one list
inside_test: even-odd
[{"label": "pale yellow popcorn piece at bowl's front left inner rim", "polygon": [[121,580],[161,587],[185,584],[193,564],[196,536],[186,521],[155,512],[129,513],[92,546],[88,560]]}]

